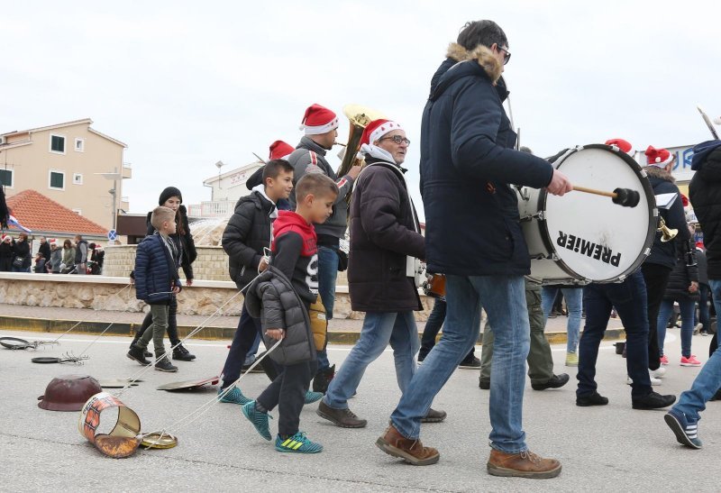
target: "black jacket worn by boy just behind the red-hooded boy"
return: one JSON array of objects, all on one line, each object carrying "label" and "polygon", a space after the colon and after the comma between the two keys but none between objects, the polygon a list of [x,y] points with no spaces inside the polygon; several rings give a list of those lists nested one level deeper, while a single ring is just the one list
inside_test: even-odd
[{"label": "black jacket worn by boy just behind the red-hooded boy", "polygon": [[228,254],[229,271],[238,289],[258,275],[263,248],[270,247],[272,202],[253,191],[235,204],[223,232],[223,250]]}]

